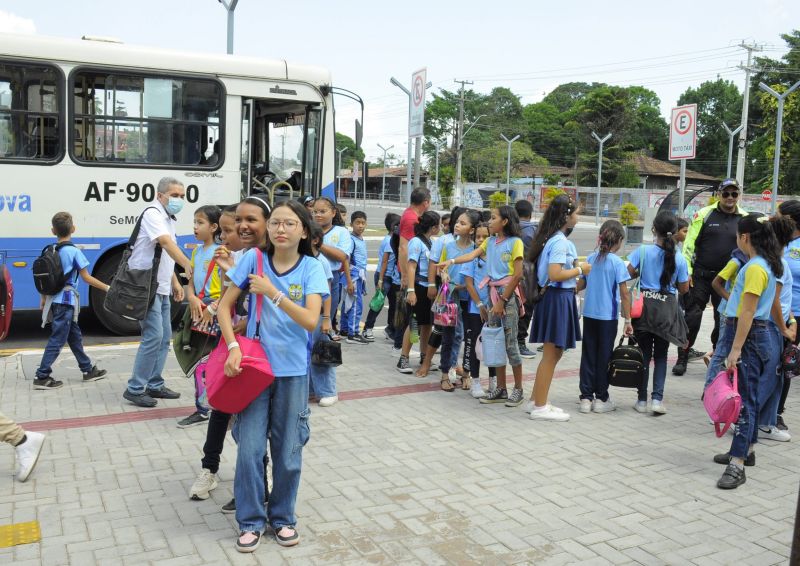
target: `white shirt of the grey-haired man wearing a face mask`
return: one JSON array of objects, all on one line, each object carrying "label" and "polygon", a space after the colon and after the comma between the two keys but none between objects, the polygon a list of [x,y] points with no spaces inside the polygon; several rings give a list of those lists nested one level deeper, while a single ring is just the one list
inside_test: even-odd
[{"label": "white shirt of the grey-haired man wearing a face mask", "polygon": [[[169,236],[173,242],[178,243],[175,233],[177,220],[169,214],[160,202],[155,202],[142,212],[142,224],[139,235],[133,244],[128,267],[131,269],[151,269],[156,243],[161,236]],[[172,284],[172,275],[175,273],[175,260],[161,250],[161,259],[158,263],[158,289],[159,295],[169,295]]]}]

